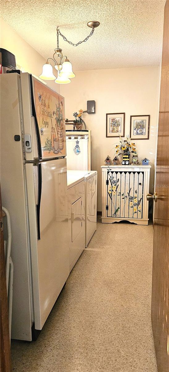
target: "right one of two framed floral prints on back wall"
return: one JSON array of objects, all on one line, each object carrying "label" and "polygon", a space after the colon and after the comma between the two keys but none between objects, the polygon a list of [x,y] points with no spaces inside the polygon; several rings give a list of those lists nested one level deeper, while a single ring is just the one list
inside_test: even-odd
[{"label": "right one of two framed floral prints on back wall", "polygon": [[150,115],[130,116],[130,138],[131,140],[149,139]]}]

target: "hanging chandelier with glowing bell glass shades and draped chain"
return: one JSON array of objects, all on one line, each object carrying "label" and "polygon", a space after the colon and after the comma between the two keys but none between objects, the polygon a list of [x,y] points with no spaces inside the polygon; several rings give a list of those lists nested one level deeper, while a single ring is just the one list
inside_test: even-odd
[{"label": "hanging chandelier with glowing bell glass shades and draped chain", "polygon": [[[72,64],[70,63],[66,55],[63,56],[62,49],[59,48],[59,35],[62,36],[64,41],[67,41],[69,44],[73,45],[73,47],[77,47],[77,45],[86,42],[89,37],[93,35],[95,28],[99,25],[100,22],[97,21],[88,22],[87,26],[92,28],[92,31],[83,41],[79,41],[77,44],[73,44],[71,41],[67,40],[57,27],[57,48],[54,49],[53,58],[47,58],[47,62],[43,65],[42,68],[42,74],[39,77],[43,80],[55,80],[55,83],[57,84],[69,84],[71,82],[70,79],[75,77],[75,74],[72,71]],[[57,60],[55,58],[57,58]],[[49,60],[52,60],[54,62],[54,68],[56,68],[57,70],[57,78],[53,74],[53,67]]]}]

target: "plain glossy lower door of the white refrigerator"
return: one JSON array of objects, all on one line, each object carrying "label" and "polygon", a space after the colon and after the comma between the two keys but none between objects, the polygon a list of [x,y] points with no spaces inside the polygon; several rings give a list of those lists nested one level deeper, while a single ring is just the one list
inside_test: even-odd
[{"label": "plain glossy lower door of the white refrigerator", "polygon": [[69,275],[66,159],[26,164],[35,328],[41,330]]}]

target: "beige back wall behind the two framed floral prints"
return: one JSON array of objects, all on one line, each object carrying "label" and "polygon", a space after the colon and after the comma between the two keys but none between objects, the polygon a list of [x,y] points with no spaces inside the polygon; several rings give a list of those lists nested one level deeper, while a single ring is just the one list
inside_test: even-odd
[{"label": "beige back wall behind the two framed floral prints", "polygon": [[[149,140],[135,141],[139,160],[147,157],[152,166],[150,191],[156,154],[156,127],[159,67],[122,68],[115,70],[78,71],[70,84],[60,87],[65,97],[66,118],[86,110],[87,100],[96,101],[96,113],[82,118],[92,131],[92,169],[98,171],[97,211],[102,210],[101,169],[107,154],[113,159],[115,138],[106,138],[106,113],[125,112],[125,136],[130,135],[130,115],[150,114]],[[70,126],[69,126],[70,129]]]}]

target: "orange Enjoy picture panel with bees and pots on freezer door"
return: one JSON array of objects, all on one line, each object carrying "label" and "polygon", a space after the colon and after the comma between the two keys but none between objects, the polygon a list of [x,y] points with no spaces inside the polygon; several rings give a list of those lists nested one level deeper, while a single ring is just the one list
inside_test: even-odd
[{"label": "orange Enjoy picture panel with bees and pots on freezer door", "polygon": [[42,159],[66,156],[64,97],[31,78]]}]

